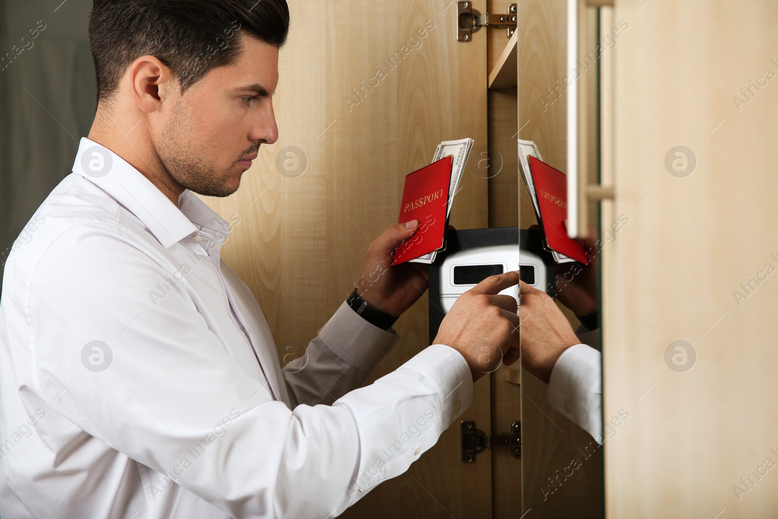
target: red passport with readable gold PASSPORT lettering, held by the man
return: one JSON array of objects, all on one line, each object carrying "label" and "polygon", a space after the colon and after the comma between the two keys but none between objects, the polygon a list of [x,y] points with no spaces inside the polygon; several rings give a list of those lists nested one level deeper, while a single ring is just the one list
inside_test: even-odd
[{"label": "red passport with readable gold PASSPORT lettering, held by the man", "polygon": [[451,156],[405,175],[398,223],[419,220],[419,230],[394,249],[393,267],[443,247],[450,180]]}]

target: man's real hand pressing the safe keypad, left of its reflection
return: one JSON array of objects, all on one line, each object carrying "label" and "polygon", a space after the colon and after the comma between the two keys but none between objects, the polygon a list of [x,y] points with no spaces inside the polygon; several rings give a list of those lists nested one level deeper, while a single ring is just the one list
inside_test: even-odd
[{"label": "man's real hand pressing the safe keypad, left of its reflection", "polygon": [[517,301],[498,294],[517,282],[516,271],[489,276],[459,296],[440,323],[435,344],[460,352],[474,382],[496,370],[500,361],[510,366],[519,358]]}]

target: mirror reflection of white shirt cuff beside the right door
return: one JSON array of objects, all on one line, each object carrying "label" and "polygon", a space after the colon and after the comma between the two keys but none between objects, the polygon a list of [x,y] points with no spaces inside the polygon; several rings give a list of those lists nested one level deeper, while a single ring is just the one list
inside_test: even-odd
[{"label": "mirror reflection of white shirt cuff beside the right door", "polygon": [[601,354],[585,344],[559,356],[548,380],[548,403],[602,443]]}]

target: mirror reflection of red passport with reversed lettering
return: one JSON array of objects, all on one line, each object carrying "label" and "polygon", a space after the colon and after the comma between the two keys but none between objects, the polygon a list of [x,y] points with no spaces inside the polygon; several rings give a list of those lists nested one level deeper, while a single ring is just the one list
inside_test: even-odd
[{"label": "mirror reflection of red passport with reversed lettering", "polygon": [[559,170],[542,160],[530,156],[530,171],[538,194],[541,228],[549,249],[589,265],[584,247],[567,235],[564,221],[567,218],[567,178]]}]

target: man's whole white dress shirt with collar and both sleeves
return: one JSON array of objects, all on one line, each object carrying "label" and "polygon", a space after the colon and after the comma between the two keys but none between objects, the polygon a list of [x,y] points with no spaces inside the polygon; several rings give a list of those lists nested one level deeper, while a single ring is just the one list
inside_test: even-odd
[{"label": "man's whole white dress shirt with collar and both sleeves", "polygon": [[471,403],[447,345],[354,389],[399,337],[345,303],[282,370],[219,259],[230,224],[89,139],[26,230],[0,302],[3,519],[335,517]]}]

